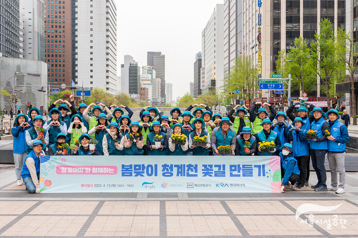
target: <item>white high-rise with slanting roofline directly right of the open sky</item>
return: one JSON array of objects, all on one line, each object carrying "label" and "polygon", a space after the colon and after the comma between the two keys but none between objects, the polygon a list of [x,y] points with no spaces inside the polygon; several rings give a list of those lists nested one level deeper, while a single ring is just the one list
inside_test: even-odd
[{"label": "white high-rise with slanting roofline directly right of the open sky", "polygon": [[219,90],[224,79],[224,4],[216,4],[202,31],[202,93]]}]

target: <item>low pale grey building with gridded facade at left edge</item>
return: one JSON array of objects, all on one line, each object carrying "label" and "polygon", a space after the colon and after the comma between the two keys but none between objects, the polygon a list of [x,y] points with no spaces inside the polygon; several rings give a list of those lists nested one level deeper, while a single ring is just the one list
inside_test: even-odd
[{"label": "low pale grey building with gridded facade at left edge", "polygon": [[45,62],[0,57],[0,72],[0,90],[5,90],[18,98],[16,105],[10,102],[11,98],[6,96],[0,98],[1,108],[6,108],[8,111],[12,108],[16,112],[19,107],[27,114],[26,107],[30,103],[32,107],[47,110],[48,92],[38,91],[41,88],[39,85],[47,85],[47,64]]}]

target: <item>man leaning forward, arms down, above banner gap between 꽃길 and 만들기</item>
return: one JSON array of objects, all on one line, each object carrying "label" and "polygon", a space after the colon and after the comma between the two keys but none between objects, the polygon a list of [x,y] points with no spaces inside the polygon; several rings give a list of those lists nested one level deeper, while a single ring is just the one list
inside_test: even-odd
[{"label": "man leaning forward, arms down, above banner gap between \uaf43\uae38 and \ub9cc\ub4e4\uae30", "polygon": [[236,147],[236,133],[233,128],[230,128],[232,123],[228,117],[223,117],[219,124],[219,127],[216,127],[211,133],[211,147],[213,148],[213,152],[215,155],[219,155],[219,151],[217,148],[219,146],[232,146],[232,153],[230,155],[235,154]]}]

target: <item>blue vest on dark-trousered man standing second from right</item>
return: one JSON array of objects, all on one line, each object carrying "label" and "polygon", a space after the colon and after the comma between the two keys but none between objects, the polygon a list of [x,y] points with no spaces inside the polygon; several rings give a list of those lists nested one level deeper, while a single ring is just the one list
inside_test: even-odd
[{"label": "blue vest on dark-trousered man standing second from right", "polygon": [[330,126],[328,122],[324,120],[323,116],[311,123],[311,130],[317,131],[318,137],[316,141],[311,141],[311,149],[328,150],[327,137],[324,135],[324,132],[326,130],[330,132]]}]

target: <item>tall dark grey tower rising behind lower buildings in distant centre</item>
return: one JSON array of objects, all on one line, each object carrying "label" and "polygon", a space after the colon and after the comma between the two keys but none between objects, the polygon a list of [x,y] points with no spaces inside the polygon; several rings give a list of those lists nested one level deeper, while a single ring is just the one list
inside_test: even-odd
[{"label": "tall dark grey tower rising behind lower buildings in distant centre", "polygon": [[161,79],[161,92],[160,97],[165,97],[165,55],[161,52],[147,52],[147,65],[154,66],[156,71],[156,77]]}]

